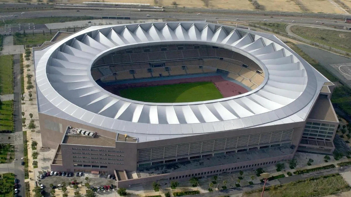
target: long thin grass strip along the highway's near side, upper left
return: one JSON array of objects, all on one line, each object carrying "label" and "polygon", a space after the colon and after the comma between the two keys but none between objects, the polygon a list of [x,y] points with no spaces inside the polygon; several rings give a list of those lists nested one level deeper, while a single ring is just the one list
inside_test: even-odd
[{"label": "long thin grass strip along the highway's near side, upper left", "polygon": [[[58,23],[58,22],[69,22],[69,21],[80,21],[80,20],[92,20],[94,17],[91,16],[75,16],[75,17],[37,17],[37,18],[25,18],[25,19],[13,19],[6,20],[7,24],[18,24],[18,23],[34,23],[34,24],[45,24],[45,23]],[[0,27],[4,27],[5,24],[0,24]]]}]

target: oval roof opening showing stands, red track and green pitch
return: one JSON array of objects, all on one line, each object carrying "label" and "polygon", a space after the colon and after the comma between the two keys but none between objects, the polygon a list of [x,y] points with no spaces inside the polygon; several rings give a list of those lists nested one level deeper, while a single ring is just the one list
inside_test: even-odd
[{"label": "oval roof opening showing stands, red track and green pitch", "polygon": [[256,89],[265,77],[250,58],[205,44],[155,44],[114,51],[95,61],[91,75],[108,92],[151,103],[237,96]]}]

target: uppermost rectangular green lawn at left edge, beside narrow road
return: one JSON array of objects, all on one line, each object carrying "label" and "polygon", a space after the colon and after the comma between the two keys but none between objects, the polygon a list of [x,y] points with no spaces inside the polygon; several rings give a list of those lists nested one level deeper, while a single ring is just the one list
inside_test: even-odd
[{"label": "uppermost rectangular green lawn at left edge, beside narrow road", "polygon": [[0,56],[0,94],[12,94],[13,93],[13,75],[12,75],[12,55],[1,55]]}]

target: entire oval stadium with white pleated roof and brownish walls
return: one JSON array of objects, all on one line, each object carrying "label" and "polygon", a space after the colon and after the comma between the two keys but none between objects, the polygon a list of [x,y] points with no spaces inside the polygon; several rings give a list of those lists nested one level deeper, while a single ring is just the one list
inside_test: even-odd
[{"label": "entire oval stadium with white pleated roof and brownish walls", "polygon": [[119,187],[331,154],[335,85],[276,36],[206,21],[91,26],[34,51],[51,170]]}]

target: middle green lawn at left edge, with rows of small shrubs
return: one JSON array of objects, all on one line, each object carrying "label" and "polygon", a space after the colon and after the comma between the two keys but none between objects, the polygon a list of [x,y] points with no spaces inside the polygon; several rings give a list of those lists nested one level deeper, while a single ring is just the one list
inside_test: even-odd
[{"label": "middle green lawn at left edge, with rows of small shrubs", "polygon": [[13,131],[13,101],[2,101],[0,105],[0,131]]}]

